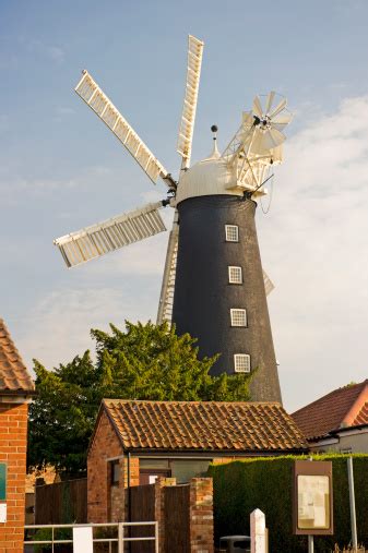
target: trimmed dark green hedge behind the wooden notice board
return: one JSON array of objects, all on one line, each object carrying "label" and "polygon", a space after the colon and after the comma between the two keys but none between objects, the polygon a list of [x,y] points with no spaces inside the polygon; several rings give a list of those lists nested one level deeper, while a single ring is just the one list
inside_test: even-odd
[{"label": "trimmed dark green hedge behind the wooden notice board", "polygon": [[[301,553],[307,538],[293,536],[292,486],[295,459],[306,456],[263,457],[211,465],[214,484],[215,539],[250,534],[249,515],[265,514],[272,553]],[[316,553],[333,551],[351,541],[351,513],[346,455],[313,455],[313,460],[332,460],[334,534],[314,537]],[[353,455],[358,542],[368,546],[368,455]]]}]

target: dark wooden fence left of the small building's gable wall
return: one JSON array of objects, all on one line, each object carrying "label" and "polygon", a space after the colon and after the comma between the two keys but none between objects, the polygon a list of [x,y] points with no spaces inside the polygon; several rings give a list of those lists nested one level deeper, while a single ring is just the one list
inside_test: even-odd
[{"label": "dark wooden fence left of the small building's gable wall", "polygon": [[66,525],[87,521],[87,479],[36,486],[35,524]]}]

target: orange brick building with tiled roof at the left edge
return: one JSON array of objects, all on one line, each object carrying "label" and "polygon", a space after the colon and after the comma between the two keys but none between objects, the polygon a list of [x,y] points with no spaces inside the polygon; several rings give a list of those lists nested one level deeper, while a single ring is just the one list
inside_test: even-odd
[{"label": "orange brick building with tiled roof at the left edge", "polygon": [[22,553],[28,401],[34,383],[0,318],[0,553]]}]

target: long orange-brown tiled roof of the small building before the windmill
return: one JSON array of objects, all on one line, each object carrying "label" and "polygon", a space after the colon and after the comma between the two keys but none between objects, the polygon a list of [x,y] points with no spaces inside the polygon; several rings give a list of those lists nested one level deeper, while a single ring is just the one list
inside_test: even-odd
[{"label": "long orange-brown tiled roof of the small building before the windmill", "polygon": [[272,453],[307,447],[276,402],[104,399],[103,405],[124,449]]}]

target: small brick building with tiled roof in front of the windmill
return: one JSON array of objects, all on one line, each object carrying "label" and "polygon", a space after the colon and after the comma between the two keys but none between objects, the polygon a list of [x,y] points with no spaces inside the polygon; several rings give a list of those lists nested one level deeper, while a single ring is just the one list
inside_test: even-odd
[{"label": "small brick building with tiled roof in front of the windmill", "polygon": [[157,477],[185,483],[210,462],[307,452],[277,402],[102,402],[87,457],[88,521],[128,518],[126,489]]}]

